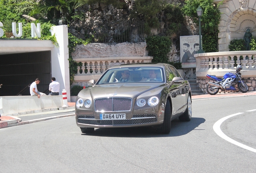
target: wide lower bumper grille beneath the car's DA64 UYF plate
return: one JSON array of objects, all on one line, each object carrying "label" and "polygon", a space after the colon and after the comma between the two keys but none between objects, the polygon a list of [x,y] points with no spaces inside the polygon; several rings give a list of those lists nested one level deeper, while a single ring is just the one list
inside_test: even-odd
[{"label": "wide lower bumper grille beneath the car's DA64 UYF plate", "polygon": [[[89,118],[90,117],[90,118]],[[157,122],[157,115],[155,114],[142,114],[132,115],[132,119],[124,120],[96,120],[94,116],[78,116],[78,123],[87,125],[139,125]]]}]

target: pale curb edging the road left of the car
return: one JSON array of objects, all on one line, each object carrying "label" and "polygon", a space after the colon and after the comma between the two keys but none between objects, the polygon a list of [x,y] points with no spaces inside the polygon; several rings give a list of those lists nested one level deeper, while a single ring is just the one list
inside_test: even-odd
[{"label": "pale curb edging the road left of the car", "polygon": [[[53,116],[53,117],[45,117],[41,119],[34,119],[34,120],[29,120],[29,121],[23,121],[21,122],[21,119],[18,117],[15,117],[16,119],[8,120],[8,121],[2,121],[0,122],[0,129],[6,128],[6,127],[13,127],[13,126],[18,126],[18,125],[25,125],[25,124],[31,124],[31,123],[37,123],[41,121],[46,121],[50,119],[57,119],[57,118],[64,118],[64,117],[72,117],[75,114],[68,114],[68,115],[58,115],[58,116]],[[11,116],[9,116],[11,117]],[[20,121],[19,121],[20,120]]]}]

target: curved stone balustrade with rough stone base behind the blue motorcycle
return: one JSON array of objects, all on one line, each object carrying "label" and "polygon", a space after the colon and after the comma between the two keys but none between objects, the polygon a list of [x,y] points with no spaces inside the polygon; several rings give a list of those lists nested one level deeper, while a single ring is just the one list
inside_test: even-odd
[{"label": "curved stone balustrade with rough stone base behind the blue motorcycle", "polygon": [[227,72],[235,72],[237,64],[243,67],[242,79],[248,85],[249,91],[256,91],[256,51],[212,52],[194,56],[196,57],[196,82],[204,93],[210,81],[206,74],[223,77]]}]

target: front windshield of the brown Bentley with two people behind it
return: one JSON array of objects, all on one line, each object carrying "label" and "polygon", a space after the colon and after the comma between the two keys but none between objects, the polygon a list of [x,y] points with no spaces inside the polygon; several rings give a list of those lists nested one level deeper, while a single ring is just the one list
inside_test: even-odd
[{"label": "front windshield of the brown Bentley with two people behind it", "polygon": [[124,67],[107,70],[97,84],[123,82],[164,82],[163,69],[160,67]]}]

